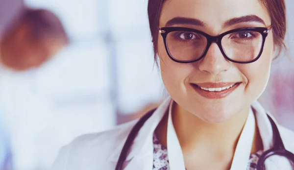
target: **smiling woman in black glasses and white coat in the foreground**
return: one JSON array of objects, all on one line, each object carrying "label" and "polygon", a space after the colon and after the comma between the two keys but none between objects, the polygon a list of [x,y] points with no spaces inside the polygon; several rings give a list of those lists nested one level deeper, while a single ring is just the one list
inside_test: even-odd
[{"label": "smiling woman in black glasses and white coat in the foreground", "polygon": [[[148,16],[171,97],[147,114],[134,140],[126,141],[137,121],[79,137],[53,170],[255,170],[281,143],[256,100],[284,47],[284,0],[149,0]],[[294,133],[278,127],[294,152]],[[281,156],[265,167],[292,169]]]}]

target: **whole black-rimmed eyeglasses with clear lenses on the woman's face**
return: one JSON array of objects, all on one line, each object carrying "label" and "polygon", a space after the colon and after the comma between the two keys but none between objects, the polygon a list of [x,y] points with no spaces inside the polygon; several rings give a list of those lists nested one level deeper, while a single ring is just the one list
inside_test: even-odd
[{"label": "whole black-rimmed eyeglasses with clear lenses on the woman's face", "polygon": [[226,31],[211,36],[202,31],[185,27],[162,27],[169,57],[178,63],[192,63],[201,60],[212,43],[217,43],[222,55],[234,63],[252,63],[262,54],[271,26],[249,27]]}]

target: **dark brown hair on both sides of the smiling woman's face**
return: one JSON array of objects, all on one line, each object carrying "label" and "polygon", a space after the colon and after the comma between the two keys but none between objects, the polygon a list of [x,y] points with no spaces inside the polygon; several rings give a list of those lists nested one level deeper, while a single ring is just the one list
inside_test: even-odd
[{"label": "dark brown hair on both sides of the smiling woman's face", "polygon": [[[159,31],[159,18],[164,3],[167,0],[148,0],[148,18],[149,27],[152,36],[152,43],[154,49],[154,60],[157,61],[157,41]],[[273,40],[276,48],[277,56],[281,53],[282,49],[286,49],[284,44],[286,34],[286,5],[285,0],[260,0],[261,3],[267,8],[272,25]],[[157,64],[157,62],[156,62]]]}]

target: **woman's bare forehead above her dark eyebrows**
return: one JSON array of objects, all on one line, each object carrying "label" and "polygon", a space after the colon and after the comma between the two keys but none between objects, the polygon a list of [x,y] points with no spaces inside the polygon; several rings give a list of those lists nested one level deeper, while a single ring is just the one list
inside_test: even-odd
[{"label": "woman's bare forehead above her dark eyebrows", "polygon": [[216,29],[232,18],[247,15],[256,15],[270,25],[270,15],[260,0],[167,0],[159,26],[165,26],[172,18],[184,17],[200,20]]}]

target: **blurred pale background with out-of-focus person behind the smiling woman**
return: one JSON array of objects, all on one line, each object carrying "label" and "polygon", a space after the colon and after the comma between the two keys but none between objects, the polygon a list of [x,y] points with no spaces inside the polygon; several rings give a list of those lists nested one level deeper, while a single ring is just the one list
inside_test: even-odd
[{"label": "blurred pale background with out-of-focus person behind the smiling woman", "polygon": [[[260,101],[294,130],[294,1],[286,3],[289,50]],[[167,96],[147,0],[0,0],[0,40],[0,170],[48,170],[76,136],[136,119]]]}]

